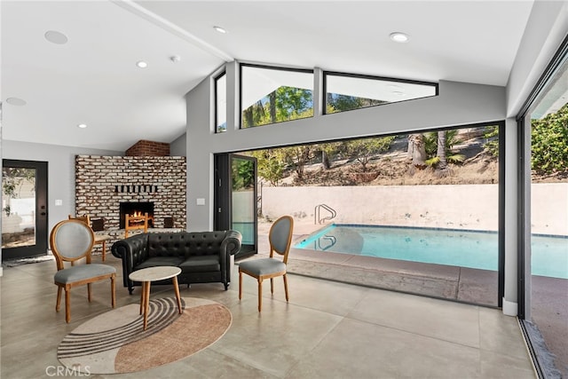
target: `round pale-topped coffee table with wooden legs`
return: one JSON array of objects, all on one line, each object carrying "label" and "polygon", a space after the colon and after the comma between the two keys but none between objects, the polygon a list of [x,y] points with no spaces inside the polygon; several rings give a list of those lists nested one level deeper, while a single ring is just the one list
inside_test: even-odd
[{"label": "round pale-topped coffee table with wooden legs", "polygon": [[140,314],[144,309],[144,330],[146,330],[148,322],[148,304],[150,304],[150,284],[157,280],[166,280],[172,278],[174,290],[176,291],[177,310],[181,314],[181,297],[179,296],[179,287],[177,286],[177,275],[181,269],[174,266],[156,266],[143,268],[135,272],[130,272],[128,276],[130,280],[142,283],[142,292],[140,294]]}]

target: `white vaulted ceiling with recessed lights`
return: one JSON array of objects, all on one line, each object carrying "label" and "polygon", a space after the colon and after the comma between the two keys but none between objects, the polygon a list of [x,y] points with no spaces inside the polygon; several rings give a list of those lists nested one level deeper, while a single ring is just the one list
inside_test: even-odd
[{"label": "white vaulted ceiling with recessed lights", "polygon": [[[3,138],[116,151],[139,139],[171,142],[185,132],[185,93],[235,59],[505,86],[532,7],[528,0],[2,1]],[[397,31],[409,40],[391,41]]]}]

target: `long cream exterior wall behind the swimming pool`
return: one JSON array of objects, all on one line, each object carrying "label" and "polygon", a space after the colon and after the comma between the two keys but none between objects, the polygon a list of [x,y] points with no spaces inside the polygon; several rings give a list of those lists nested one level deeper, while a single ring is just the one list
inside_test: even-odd
[{"label": "long cream exterior wall behind the swimming pool", "polygon": [[[338,224],[497,231],[498,185],[263,187],[262,212],[315,222],[314,209],[335,209]],[[553,201],[551,201],[553,200]],[[568,236],[568,183],[533,185],[533,233]],[[328,213],[321,209],[321,216]]]}]

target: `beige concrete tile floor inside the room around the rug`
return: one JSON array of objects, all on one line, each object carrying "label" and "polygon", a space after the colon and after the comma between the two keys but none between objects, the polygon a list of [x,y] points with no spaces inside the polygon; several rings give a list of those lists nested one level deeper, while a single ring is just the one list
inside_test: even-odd
[{"label": "beige concrete tile floor inside the room around the rug", "polygon": [[[95,258],[95,261],[97,259]],[[118,269],[117,306],[138,304]],[[55,263],[5,268],[0,281],[3,379],[52,377],[60,340],[85,320],[110,309],[109,286],[75,288],[72,322],[55,312]],[[501,311],[428,297],[288,274],[290,302],[282,281],[272,297],[266,282],[263,312],[256,310],[256,281],[238,272],[228,291],[222,284],[182,286],[182,296],[225,304],[233,324],[208,349],[177,362],[129,375],[94,378],[534,378],[517,320]],[[153,297],[174,296],[170,286],[152,287]],[[46,371],[48,370],[48,371]]]}]

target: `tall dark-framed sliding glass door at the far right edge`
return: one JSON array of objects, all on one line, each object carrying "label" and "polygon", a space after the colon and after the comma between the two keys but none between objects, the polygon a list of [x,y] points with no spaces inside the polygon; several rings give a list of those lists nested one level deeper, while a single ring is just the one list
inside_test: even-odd
[{"label": "tall dark-framed sliding glass door at the far right edge", "polygon": [[519,317],[539,373],[568,377],[568,39],[536,88],[518,119]]}]

